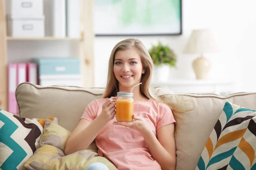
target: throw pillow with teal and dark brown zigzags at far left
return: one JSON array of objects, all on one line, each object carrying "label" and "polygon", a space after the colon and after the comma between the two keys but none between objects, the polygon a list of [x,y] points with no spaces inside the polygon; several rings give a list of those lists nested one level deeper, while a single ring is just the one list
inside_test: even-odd
[{"label": "throw pillow with teal and dark brown zigzags at far left", "polygon": [[44,122],[45,119],[20,118],[0,109],[0,169],[26,169],[24,164],[36,150]]}]

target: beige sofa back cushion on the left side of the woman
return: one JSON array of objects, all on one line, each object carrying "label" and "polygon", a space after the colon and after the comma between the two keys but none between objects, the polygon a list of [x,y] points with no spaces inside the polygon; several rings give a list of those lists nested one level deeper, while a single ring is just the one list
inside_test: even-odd
[{"label": "beige sofa back cushion on the left side of the woman", "polygon": [[58,118],[59,125],[73,131],[84,109],[94,99],[102,97],[103,88],[42,87],[22,83],[16,89],[20,117]]}]

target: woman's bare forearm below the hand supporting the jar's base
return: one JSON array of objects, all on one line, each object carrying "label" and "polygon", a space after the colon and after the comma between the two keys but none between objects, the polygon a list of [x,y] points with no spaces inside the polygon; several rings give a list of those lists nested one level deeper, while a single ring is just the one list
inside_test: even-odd
[{"label": "woman's bare forearm below the hand supporting the jar's base", "polygon": [[154,133],[148,129],[142,133],[142,136],[148,145],[152,157],[160,164],[163,170],[174,170],[176,158],[160,144]]}]

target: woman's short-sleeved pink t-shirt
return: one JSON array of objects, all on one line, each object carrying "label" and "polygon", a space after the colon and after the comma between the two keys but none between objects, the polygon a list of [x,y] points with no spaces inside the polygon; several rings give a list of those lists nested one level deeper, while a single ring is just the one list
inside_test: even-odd
[{"label": "woman's short-sleeved pink t-shirt", "polygon": [[[107,99],[96,99],[87,105],[81,119],[92,122],[101,113],[102,104]],[[160,127],[176,123],[171,109],[152,99],[134,102],[134,114],[143,117],[155,135]],[[99,156],[112,161],[118,170],[161,170],[160,165],[152,158],[140,132],[129,127],[113,125],[114,121],[115,117],[96,137]]]}]

